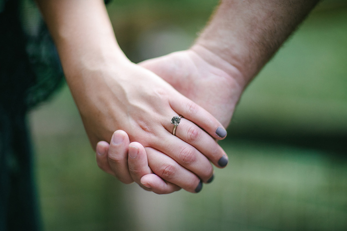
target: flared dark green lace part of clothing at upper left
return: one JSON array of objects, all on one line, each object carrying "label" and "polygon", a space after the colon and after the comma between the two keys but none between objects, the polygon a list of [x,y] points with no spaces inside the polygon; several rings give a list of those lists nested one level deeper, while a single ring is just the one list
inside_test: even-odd
[{"label": "flared dark green lace part of clothing at upper left", "polygon": [[51,95],[63,73],[35,3],[0,2],[0,100],[11,111],[26,111]]}]

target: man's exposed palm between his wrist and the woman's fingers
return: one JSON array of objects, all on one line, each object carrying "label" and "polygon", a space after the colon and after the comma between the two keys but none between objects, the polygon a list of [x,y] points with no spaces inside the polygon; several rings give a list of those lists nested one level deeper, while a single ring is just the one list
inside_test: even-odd
[{"label": "man's exposed palm between his wrist and the woman's fingers", "polygon": [[245,87],[238,82],[240,72],[219,57],[211,57],[209,51],[196,50],[174,52],[139,65],[159,75],[227,127]]}]

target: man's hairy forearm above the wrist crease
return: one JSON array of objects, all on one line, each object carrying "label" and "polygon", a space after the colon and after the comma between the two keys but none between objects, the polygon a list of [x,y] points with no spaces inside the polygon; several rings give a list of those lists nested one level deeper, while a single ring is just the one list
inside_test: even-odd
[{"label": "man's hairy forearm above the wrist crease", "polygon": [[236,67],[246,85],[318,0],[221,0],[193,49]]}]

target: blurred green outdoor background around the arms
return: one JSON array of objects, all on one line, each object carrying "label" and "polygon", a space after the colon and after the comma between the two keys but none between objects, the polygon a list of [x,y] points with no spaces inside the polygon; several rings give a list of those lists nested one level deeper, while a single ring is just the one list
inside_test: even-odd
[{"label": "blurred green outdoor background around the arms", "polygon": [[[134,62],[189,47],[217,0],[113,0]],[[45,230],[347,230],[347,2],[323,1],[246,89],[198,194],[155,195],[95,162],[68,88],[30,114]]]}]

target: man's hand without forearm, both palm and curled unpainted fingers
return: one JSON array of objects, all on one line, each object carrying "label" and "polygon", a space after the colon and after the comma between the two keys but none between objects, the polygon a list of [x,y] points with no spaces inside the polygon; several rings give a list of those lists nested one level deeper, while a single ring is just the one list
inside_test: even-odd
[{"label": "man's hand without forearm, both palm and curled unpainted fingers", "polygon": [[[223,125],[227,126],[243,90],[242,85],[237,80],[239,72],[230,65],[218,60],[218,57],[212,57],[207,51],[206,53],[202,51],[200,50],[200,53],[193,50],[175,52],[144,61],[140,65],[166,79],[178,91],[190,97],[193,101],[200,103],[218,118]],[[210,59],[204,59],[200,55],[206,55]],[[211,60],[212,63],[209,63],[208,60]],[[218,65],[214,65],[214,61]],[[116,131],[113,134],[114,137],[123,137],[122,140],[127,140],[127,134],[124,131]],[[108,155],[96,155],[99,167],[106,172],[116,174],[119,179],[121,176],[130,177],[141,187],[150,187],[155,193],[171,193],[176,190],[167,181],[163,181],[151,174],[152,172],[147,164],[147,158],[150,163],[155,161],[155,159],[150,159],[153,156],[151,149],[139,148],[141,150],[139,159],[142,161],[135,161],[130,157],[133,147],[132,145],[128,146],[128,142],[115,144],[111,141],[110,145],[107,142],[98,143],[97,153],[104,154],[108,152]],[[147,156],[145,151],[147,151]],[[117,162],[112,161],[115,157],[118,160]],[[227,161],[227,159],[224,160]],[[224,165],[222,162],[223,159],[220,160],[218,165],[225,166],[227,163],[225,162]],[[128,172],[126,169],[128,169]],[[212,179],[213,175],[207,182],[211,182]]]}]

